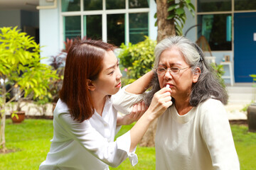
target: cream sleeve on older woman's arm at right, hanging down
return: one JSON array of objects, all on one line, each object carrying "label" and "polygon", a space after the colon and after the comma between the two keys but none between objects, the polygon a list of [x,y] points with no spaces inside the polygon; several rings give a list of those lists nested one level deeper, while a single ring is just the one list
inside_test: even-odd
[{"label": "cream sleeve on older woman's arm at right, hanging down", "polygon": [[201,109],[201,134],[206,142],[214,169],[240,169],[233,135],[225,108],[212,100]]}]

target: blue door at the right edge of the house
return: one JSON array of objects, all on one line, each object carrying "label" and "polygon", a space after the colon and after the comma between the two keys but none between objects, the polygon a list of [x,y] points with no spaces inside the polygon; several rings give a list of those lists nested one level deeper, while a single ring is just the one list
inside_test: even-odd
[{"label": "blue door at the right edge of the house", "polygon": [[252,82],[249,75],[256,74],[254,34],[256,34],[256,13],[234,13],[235,82]]}]

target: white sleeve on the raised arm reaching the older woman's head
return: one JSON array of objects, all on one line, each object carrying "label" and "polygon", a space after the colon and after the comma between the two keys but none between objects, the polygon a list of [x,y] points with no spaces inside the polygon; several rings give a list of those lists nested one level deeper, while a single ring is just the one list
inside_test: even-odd
[{"label": "white sleeve on the raised arm reaching the older woman's head", "polygon": [[128,93],[127,91],[125,91],[127,86],[124,86],[117,92],[117,94],[113,96],[114,108],[125,115],[129,115],[129,113],[132,112],[132,107],[134,106],[134,104],[142,101],[144,96],[144,94]]}]

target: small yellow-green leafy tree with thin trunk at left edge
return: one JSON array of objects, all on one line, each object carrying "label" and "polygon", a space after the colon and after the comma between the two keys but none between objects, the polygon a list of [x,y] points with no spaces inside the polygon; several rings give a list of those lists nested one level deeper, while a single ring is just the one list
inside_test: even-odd
[{"label": "small yellow-green leafy tree with thin trunk at left edge", "polygon": [[[1,134],[0,149],[5,146],[6,105],[17,100],[19,103],[28,97],[42,98],[48,95],[49,79],[55,79],[56,73],[46,64],[41,64],[40,45],[33,37],[21,33],[17,28],[0,28],[0,95]],[[6,87],[9,86],[9,89]],[[10,92],[18,88],[16,95]],[[10,97],[11,96],[11,97]],[[8,100],[7,100],[8,98]]]}]

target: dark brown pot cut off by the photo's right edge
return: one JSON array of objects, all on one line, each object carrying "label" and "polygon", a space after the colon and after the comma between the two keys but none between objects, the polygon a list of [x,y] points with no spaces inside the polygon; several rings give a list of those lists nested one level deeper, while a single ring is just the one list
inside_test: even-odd
[{"label": "dark brown pot cut off by the photo's right edge", "polygon": [[256,103],[252,103],[247,109],[248,128],[251,132],[256,132]]}]

